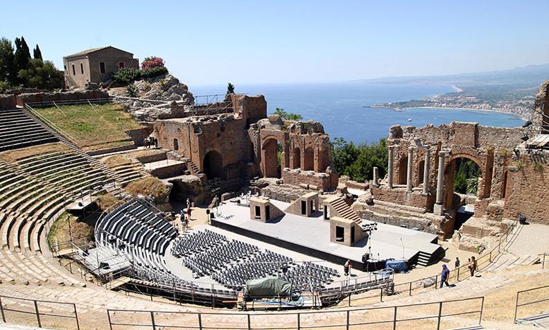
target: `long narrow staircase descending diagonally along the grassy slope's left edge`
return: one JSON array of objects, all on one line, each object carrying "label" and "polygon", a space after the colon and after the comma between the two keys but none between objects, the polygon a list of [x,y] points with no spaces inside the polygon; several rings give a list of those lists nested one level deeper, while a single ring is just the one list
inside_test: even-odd
[{"label": "long narrow staircase descending diagonally along the grassy slope's left edge", "polygon": [[[94,157],[82,151],[82,149],[80,149],[80,147],[76,145],[76,141],[74,141],[71,137],[69,137],[68,134],[62,132],[62,130],[58,130],[58,128],[55,128],[55,124],[50,123],[46,119],[43,119],[42,116],[40,115],[35,116],[32,110],[33,110],[32,107],[30,107],[29,105],[25,105],[25,109],[23,110],[23,112],[27,116],[32,118],[34,121],[36,121],[37,123],[40,123],[40,125],[42,125],[42,127],[44,127],[46,130],[51,132],[51,134],[55,135],[55,137],[57,137],[60,142],[69,146],[69,148],[71,148],[71,150],[73,150],[74,153],[85,158],[87,162],[89,162],[89,164],[92,164],[92,166],[101,170],[103,173],[107,175],[107,177],[112,178],[114,182],[116,182],[116,184],[114,185],[107,184],[105,186],[105,190],[107,190],[107,192],[114,193],[114,194],[119,193],[119,189],[123,185],[123,180],[121,179],[120,175],[114,173],[114,171],[112,171],[110,168],[105,166],[103,163],[99,162]],[[116,186],[119,186],[119,188],[116,188]]]}]

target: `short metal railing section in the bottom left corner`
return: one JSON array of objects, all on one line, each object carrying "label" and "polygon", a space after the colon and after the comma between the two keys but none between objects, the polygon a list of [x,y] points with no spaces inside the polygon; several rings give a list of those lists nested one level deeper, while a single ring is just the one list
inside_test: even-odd
[{"label": "short metal railing section in the bottom left corner", "polygon": [[[24,309],[23,306],[30,308]],[[21,307],[17,309],[17,307]],[[55,306],[56,309],[65,309],[67,313],[54,313],[52,307]],[[42,307],[42,310],[41,308]],[[30,318],[36,321],[39,328],[47,327],[46,318],[61,318],[61,319],[71,319],[76,323],[76,329],[80,329],[80,323],[78,322],[78,313],[76,312],[76,304],[71,302],[51,302],[48,300],[34,300],[18,297],[10,297],[8,295],[0,295],[0,314],[2,317],[2,322],[9,322],[10,318],[8,314],[24,314],[30,315]],[[15,318],[15,322],[20,323],[20,317]],[[45,322],[44,322],[45,321]],[[75,329],[72,325],[68,329]]]}]

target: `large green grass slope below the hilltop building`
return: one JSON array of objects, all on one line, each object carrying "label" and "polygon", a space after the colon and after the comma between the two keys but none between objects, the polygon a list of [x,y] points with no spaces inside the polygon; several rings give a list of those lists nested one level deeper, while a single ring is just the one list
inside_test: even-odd
[{"label": "large green grass slope below the hilltop building", "polygon": [[140,125],[132,119],[119,103],[94,105],[60,105],[37,110],[42,116],[58,125],[64,132],[76,139],[80,148],[96,146],[92,150],[105,149],[105,144],[126,140],[126,130],[134,130]]}]

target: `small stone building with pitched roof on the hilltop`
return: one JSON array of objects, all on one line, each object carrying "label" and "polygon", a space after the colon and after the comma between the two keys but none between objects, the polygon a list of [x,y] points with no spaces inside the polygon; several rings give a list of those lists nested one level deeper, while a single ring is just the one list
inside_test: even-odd
[{"label": "small stone building with pitched roof on the hilltop", "polygon": [[83,88],[87,83],[104,83],[123,67],[139,68],[139,59],[128,51],[105,46],[63,57],[64,76],[69,87]]}]

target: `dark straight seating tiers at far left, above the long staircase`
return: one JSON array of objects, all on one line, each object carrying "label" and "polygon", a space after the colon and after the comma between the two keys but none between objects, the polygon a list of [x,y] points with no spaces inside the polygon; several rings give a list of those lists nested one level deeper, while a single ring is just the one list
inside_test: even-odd
[{"label": "dark straight seating tiers at far left, above the long staircase", "polygon": [[0,110],[0,151],[53,141],[57,137],[23,110]]}]

